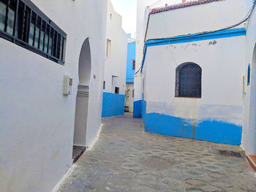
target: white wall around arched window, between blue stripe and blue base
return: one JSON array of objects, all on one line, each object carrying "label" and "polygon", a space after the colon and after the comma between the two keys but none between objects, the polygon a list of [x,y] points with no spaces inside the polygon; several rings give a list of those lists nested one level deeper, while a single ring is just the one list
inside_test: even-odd
[{"label": "white wall around arched window, between blue stripe and blue base", "polygon": [[[146,112],[178,118],[213,119],[242,126],[245,37],[148,47],[144,67]],[[202,68],[202,98],[175,97],[176,67]],[[159,86],[161,85],[161,86]]]}]

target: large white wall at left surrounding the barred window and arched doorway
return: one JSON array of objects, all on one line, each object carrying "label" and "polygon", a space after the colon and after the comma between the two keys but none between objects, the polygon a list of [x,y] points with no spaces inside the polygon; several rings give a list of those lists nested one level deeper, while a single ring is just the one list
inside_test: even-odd
[{"label": "large white wall at left surrounding the barred window and arched doorway", "polygon": [[[78,59],[91,46],[86,146],[101,123],[107,1],[33,0],[67,34],[66,62],[56,64],[0,39],[0,188],[48,192],[72,164]],[[64,74],[72,95],[62,95]]]}]

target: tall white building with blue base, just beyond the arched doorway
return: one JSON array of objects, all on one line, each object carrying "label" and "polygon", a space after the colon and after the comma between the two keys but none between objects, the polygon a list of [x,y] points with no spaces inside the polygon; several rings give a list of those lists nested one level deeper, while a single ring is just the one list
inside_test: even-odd
[{"label": "tall white building with blue base, just beyond the arched doorway", "polygon": [[121,15],[108,1],[107,47],[103,82],[102,117],[124,115],[127,65],[127,34],[122,29]]}]

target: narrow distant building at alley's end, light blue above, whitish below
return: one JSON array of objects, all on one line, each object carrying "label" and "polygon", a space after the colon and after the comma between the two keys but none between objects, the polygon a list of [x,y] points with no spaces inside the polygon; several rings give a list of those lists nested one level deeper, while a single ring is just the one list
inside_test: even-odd
[{"label": "narrow distant building at alley's end, light blue above, whitish below", "polygon": [[134,75],[135,75],[135,59],[136,59],[136,42],[128,35],[127,45],[127,90],[125,93],[125,106],[127,112],[133,112],[134,100]]}]

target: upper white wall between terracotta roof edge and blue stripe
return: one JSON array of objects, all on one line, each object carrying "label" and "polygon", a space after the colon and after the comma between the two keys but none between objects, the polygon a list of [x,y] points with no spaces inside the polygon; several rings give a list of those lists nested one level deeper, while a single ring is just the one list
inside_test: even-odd
[{"label": "upper white wall between terracotta roof edge and blue stripe", "polygon": [[[218,13],[218,14],[217,14]],[[146,39],[176,37],[215,31],[233,26],[245,18],[246,3],[241,0],[222,0],[150,15]],[[159,22],[161,20],[161,22]],[[245,27],[245,24],[237,28]]]}]

